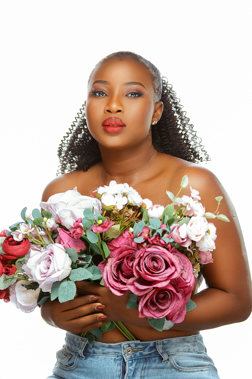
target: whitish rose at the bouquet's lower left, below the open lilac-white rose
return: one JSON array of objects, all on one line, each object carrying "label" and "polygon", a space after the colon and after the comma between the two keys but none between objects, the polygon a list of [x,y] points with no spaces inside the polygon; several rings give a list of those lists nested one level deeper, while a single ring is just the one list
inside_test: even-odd
[{"label": "whitish rose at the bouquet's lower left, below the open lilac-white rose", "polygon": [[40,288],[36,290],[26,290],[22,284],[28,285],[29,282],[27,280],[18,280],[9,287],[9,299],[15,307],[25,313],[29,313],[37,307]]}]

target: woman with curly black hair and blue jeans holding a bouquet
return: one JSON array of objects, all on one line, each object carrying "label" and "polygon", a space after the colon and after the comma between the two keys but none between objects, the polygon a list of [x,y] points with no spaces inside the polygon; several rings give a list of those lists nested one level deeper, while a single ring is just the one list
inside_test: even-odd
[{"label": "woman with curly black hair and blue jeans holding a bouquet", "polygon": [[[77,282],[73,301],[46,301],[41,308],[48,324],[68,331],[48,378],[218,378],[199,330],[244,321],[251,312],[251,279],[235,210],[215,175],[196,164],[209,157],[181,108],[149,61],[130,52],[104,58],[91,72],[85,111],[59,148],[61,172],[71,172],[49,183],[42,201],[75,186],[88,195],[116,180],[165,205],[165,190],[176,193],[187,174],[208,211],[215,211],[215,196],[224,197],[221,213],[230,219],[215,223],[214,262],[201,268],[207,288],[197,293],[199,277],[191,297],[196,308],[182,323],[158,332],[137,309],[126,309],[127,293],[118,297],[99,285]],[[184,194],[190,196],[190,190]],[[122,321],[137,341],[127,341],[115,328],[90,348],[80,334],[104,320]]]}]

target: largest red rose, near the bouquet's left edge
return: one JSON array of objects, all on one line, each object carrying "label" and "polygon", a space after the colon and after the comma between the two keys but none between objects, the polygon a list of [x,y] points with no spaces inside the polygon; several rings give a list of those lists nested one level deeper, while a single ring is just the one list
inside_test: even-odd
[{"label": "largest red rose, near the bouquet's left edge", "polygon": [[9,235],[3,241],[3,251],[6,255],[0,255],[0,260],[3,264],[7,263],[9,260],[17,259],[23,257],[28,253],[31,247],[31,243],[28,238],[23,238],[22,241],[15,241],[12,235]]}]

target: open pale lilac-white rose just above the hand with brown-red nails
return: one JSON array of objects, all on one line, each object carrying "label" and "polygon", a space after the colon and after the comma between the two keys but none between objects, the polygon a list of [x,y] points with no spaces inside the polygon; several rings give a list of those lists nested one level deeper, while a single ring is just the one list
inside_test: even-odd
[{"label": "open pale lilac-white rose just above the hand with brown-red nails", "polygon": [[49,244],[32,254],[22,266],[30,279],[39,283],[43,292],[50,292],[54,282],[60,282],[71,272],[71,259],[59,243]]}]

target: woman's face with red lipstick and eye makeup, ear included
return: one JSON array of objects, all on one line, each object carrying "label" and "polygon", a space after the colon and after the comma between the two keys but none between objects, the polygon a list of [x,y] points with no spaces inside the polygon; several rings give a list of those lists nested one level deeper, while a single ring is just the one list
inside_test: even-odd
[{"label": "woman's face with red lipstick and eye makeup, ear included", "polygon": [[102,146],[123,150],[150,138],[151,124],[161,113],[162,103],[154,103],[152,78],[141,63],[110,58],[91,75],[85,114]]}]

